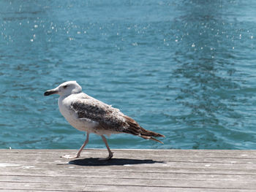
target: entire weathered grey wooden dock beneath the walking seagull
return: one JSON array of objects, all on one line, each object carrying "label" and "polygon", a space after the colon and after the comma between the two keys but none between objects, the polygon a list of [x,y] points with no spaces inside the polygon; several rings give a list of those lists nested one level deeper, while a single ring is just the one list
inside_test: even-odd
[{"label": "entire weathered grey wooden dock beneath the walking seagull", "polygon": [[256,191],[256,150],[0,150],[0,191]]}]

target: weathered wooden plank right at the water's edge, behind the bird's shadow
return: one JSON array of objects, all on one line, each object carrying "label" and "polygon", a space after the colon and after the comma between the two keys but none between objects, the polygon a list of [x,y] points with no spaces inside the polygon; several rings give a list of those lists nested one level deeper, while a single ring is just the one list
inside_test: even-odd
[{"label": "weathered wooden plank right at the water's edge, behind the bird's shadow", "polygon": [[[91,153],[91,151],[87,151],[85,153],[82,153],[82,158],[91,158],[93,157],[104,157],[107,155],[107,151],[102,150],[101,153]],[[56,153],[23,153],[23,155],[20,156],[20,153],[5,153],[4,155],[0,155],[0,162],[5,161],[5,158],[9,158],[10,162],[26,162],[27,158],[32,158],[34,162],[40,163],[44,161],[45,158],[48,158],[49,161],[56,161],[57,158],[59,158],[63,154],[67,153],[75,153],[72,152],[56,152]],[[45,156],[47,155],[47,156]],[[256,158],[253,158],[252,154],[239,154],[237,156],[239,157],[229,157],[227,155],[222,155],[222,157],[215,156],[206,156],[207,154],[199,154],[195,155],[192,153],[192,155],[187,154],[187,156],[182,156],[181,154],[170,154],[170,155],[162,155],[162,154],[152,154],[152,153],[125,153],[124,151],[118,151],[115,153],[115,158],[129,158],[129,159],[156,159],[155,161],[176,161],[176,162],[203,162],[203,163],[230,163],[230,164],[256,164]],[[246,157],[241,156],[246,155]],[[19,157],[19,158],[18,158]],[[61,158],[59,158],[61,160]]]}]

